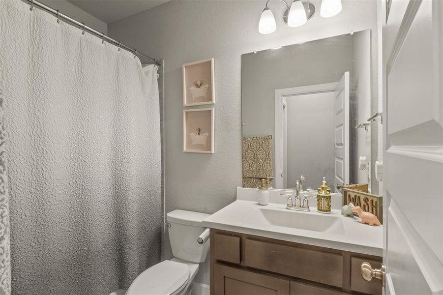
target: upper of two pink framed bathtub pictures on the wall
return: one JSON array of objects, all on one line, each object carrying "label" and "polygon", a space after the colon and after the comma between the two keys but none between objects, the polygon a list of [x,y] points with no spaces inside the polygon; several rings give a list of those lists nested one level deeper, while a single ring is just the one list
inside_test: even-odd
[{"label": "upper of two pink framed bathtub pictures on the wall", "polygon": [[214,59],[183,64],[183,106],[215,103]]}]

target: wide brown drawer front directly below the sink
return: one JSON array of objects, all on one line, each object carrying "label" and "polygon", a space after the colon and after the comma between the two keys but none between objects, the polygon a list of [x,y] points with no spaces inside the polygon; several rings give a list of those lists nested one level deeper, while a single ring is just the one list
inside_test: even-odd
[{"label": "wide brown drawer front directly below the sink", "polygon": [[343,256],[247,238],[245,265],[283,275],[343,287]]}]

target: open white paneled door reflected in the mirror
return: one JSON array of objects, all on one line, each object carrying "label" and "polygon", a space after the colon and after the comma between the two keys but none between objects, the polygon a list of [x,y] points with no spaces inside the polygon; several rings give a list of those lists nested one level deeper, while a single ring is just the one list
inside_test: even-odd
[{"label": "open white paneled door reflected in the mirror", "polygon": [[[349,184],[349,72],[345,72],[334,90],[335,114],[335,192]],[[327,179],[326,179],[327,180]]]}]

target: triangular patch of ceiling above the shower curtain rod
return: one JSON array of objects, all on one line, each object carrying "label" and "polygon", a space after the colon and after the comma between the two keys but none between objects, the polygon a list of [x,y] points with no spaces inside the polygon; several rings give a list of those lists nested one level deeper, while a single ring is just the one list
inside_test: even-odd
[{"label": "triangular patch of ceiling above the shower curtain rod", "polygon": [[90,15],[109,24],[169,0],[68,0]]}]

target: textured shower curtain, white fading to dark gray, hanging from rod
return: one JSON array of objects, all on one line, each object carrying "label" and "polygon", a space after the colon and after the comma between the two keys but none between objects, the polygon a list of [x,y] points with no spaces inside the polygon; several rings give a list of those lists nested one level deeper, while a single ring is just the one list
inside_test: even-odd
[{"label": "textured shower curtain, white fading to dark gray, hanging from rod", "polygon": [[0,92],[0,294],[8,199],[11,294],[127,288],[160,256],[156,67],[0,0]]}]

